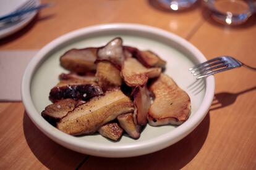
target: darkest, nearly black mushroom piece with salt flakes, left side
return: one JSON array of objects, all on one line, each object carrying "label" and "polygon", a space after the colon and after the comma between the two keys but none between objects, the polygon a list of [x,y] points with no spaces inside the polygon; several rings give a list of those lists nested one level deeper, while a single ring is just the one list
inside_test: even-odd
[{"label": "darkest, nearly black mushroom piece with salt flakes, left side", "polygon": [[49,99],[52,102],[58,102],[62,99],[88,100],[92,97],[102,95],[101,87],[90,83],[73,83],[72,81],[61,81],[53,87],[49,93]]}]

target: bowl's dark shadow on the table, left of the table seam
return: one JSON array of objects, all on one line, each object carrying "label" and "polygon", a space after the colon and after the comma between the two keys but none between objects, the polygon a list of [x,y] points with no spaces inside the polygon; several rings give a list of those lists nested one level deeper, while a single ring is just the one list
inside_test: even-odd
[{"label": "bowl's dark shadow on the table, left of the table seam", "polygon": [[23,115],[23,131],[28,147],[48,169],[75,169],[86,157],[49,139],[32,123],[27,113]]}]

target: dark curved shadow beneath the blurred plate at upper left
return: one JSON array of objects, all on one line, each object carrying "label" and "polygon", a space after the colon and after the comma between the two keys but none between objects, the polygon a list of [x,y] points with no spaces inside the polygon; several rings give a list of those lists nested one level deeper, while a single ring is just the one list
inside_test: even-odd
[{"label": "dark curved shadow beneath the blurred plate at upper left", "polygon": [[43,20],[47,20],[52,17],[54,17],[54,14],[49,14],[49,15],[45,15],[45,16],[40,16],[39,14],[36,14],[36,16],[32,19],[32,21],[30,23],[28,23],[28,25],[26,25],[24,28],[22,28],[21,30],[17,31],[14,34],[11,34],[3,39],[0,39],[0,47],[4,44],[11,42],[11,41],[14,41],[15,39],[20,38],[21,36],[26,34],[29,30],[31,30],[33,28],[33,26],[35,26],[36,23],[41,22]]}]

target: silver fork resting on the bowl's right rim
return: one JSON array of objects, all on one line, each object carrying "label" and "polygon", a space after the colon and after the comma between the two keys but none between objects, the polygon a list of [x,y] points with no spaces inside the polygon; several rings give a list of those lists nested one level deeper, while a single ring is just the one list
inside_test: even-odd
[{"label": "silver fork resting on the bowl's right rim", "polygon": [[189,68],[189,71],[193,73],[194,76],[197,76],[197,79],[200,79],[241,66],[256,71],[256,68],[245,65],[239,60],[229,56],[216,57],[215,59],[208,60],[207,62]]}]

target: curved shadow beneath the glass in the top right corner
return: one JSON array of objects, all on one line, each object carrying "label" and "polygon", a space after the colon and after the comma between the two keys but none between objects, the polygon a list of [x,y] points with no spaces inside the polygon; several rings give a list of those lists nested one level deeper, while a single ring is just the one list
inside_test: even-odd
[{"label": "curved shadow beneath the glass in the top right corner", "polygon": [[213,26],[225,28],[226,30],[245,29],[245,28],[249,28],[250,26],[254,26],[256,24],[256,14],[250,16],[249,19],[245,23],[242,23],[241,25],[224,25],[222,23],[216,22],[213,18],[211,18],[211,12],[206,7],[202,6],[201,11],[205,21],[207,21]]}]

